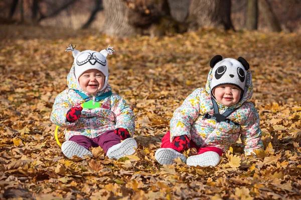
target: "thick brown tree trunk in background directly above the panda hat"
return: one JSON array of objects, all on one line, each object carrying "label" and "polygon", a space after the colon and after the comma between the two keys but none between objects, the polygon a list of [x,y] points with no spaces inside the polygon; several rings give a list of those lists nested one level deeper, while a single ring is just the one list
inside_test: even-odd
[{"label": "thick brown tree trunk in background directly above the panda hat", "polygon": [[231,21],[231,0],[191,0],[188,22],[189,30],[197,30],[203,26],[234,29]]}]

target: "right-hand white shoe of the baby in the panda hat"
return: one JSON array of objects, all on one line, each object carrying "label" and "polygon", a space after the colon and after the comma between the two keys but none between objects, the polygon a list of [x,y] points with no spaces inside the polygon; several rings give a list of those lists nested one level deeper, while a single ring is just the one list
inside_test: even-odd
[{"label": "right-hand white shoe of the baby in the panda hat", "polygon": [[187,158],[186,164],[192,166],[216,166],[220,161],[220,156],[215,151],[206,151],[202,154],[192,155]]}]

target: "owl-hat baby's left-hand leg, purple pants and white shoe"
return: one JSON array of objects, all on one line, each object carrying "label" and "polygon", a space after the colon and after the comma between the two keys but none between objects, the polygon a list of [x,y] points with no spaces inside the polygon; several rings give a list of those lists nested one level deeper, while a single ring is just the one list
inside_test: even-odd
[{"label": "owl-hat baby's left-hand leg, purple pants and white shoe", "polygon": [[93,145],[92,143],[92,140],[85,135],[74,135],[62,144],[62,151],[69,158],[73,155],[78,157],[92,155],[92,152],[89,150]]}]

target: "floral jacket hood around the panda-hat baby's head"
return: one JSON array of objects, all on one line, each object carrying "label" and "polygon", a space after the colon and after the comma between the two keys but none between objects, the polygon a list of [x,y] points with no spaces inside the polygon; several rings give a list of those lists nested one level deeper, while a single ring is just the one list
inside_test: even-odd
[{"label": "floral jacket hood around the panda-hat baby's head", "polygon": [[[212,84],[212,78],[213,78],[213,68],[210,69],[208,77],[207,77],[207,82],[206,82],[206,91],[208,92],[209,95],[211,95],[211,84]],[[253,82],[252,82],[252,75],[250,69],[247,70],[246,74],[246,85],[244,89],[243,96],[241,97],[240,101],[238,101],[236,104],[230,106],[229,108],[234,109],[239,106],[241,106],[244,102],[248,101],[251,99],[253,95]],[[212,95],[211,95],[212,96]],[[212,96],[213,97],[213,96]],[[227,106],[222,105],[218,101],[216,101],[219,105],[220,108],[226,108]]]}]

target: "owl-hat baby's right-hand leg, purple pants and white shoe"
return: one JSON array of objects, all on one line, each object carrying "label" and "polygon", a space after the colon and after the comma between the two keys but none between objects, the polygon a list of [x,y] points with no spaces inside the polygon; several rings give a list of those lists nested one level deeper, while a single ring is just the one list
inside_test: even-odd
[{"label": "owl-hat baby's right-hand leg, purple pants and white shoe", "polygon": [[114,130],[108,130],[93,138],[93,141],[103,148],[109,158],[119,159],[124,155],[132,155],[137,148],[137,142],[134,138],[129,137],[122,142],[119,135]]}]

